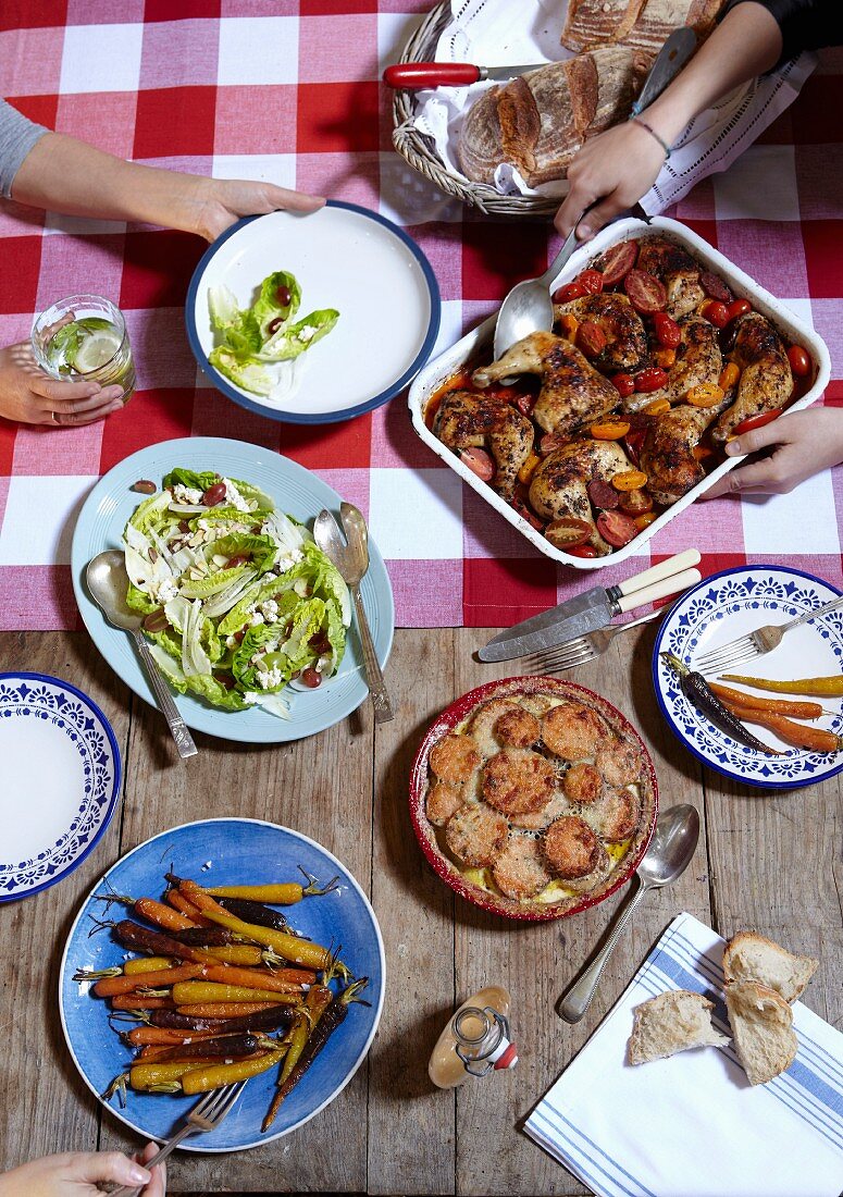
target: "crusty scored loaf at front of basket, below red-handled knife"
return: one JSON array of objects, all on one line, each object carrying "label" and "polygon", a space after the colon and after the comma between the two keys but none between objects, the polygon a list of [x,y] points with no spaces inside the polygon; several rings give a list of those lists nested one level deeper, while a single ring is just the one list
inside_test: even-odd
[{"label": "crusty scored loaf at front of basket, below red-handled knife", "polygon": [[563,178],[582,142],[629,115],[649,59],[607,45],[491,87],[469,110],[458,156],[466,178],[491,183],[515,166],[529,187]]}]

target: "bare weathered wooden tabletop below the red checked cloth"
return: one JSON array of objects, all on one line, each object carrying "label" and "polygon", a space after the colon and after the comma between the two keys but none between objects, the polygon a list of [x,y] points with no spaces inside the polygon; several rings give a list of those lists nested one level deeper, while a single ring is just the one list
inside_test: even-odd
[{"label": "bare weathered wooden tabletop below the red checked cloth", "polygon": [[[428,868],[410,828],[407,780],[426,727],[456,695],[507,675],[506,666],[471,660],[482,632],[397,633],[387,670],[393,723],[375,729],[365,705],[294,745],[245,748],[197,736],[200,757],[187,766],[160,716],[133,697],[85,633],[0,636],[0,669],[56,674],[87,691],[111,719],[124,761],[122,807],[92,856],[55,888],[0,907],[0,1167],[49,1152],[139,1147],[71,1061],[56,1009],[59,960],[96,879],[149,836],[196,818],[268,819],[335,852],[380,919],[387,991],[368,1061],[332,1105],[267,1148],[177,1155],[171,1191],[584,1192],[519,1128],[682,910],[723,935],[756,928],[819,956],[805,1002],[841,1026],[839,780],[768,795],[702,770],[658,713],[649,680],[654,634],[633,632],[566,676],[599,691],[635,723],[655,761],[662,807],[692,802],[703,839],[680,881],[636,912],[576,1027],[554,1005],[622,895],[540,926],[503,922],[457,899]],[[513,994],[518,1068],[457,1093],[434,1090],[427,1059],[440,1028],[458,1001],[495,982]]]}]

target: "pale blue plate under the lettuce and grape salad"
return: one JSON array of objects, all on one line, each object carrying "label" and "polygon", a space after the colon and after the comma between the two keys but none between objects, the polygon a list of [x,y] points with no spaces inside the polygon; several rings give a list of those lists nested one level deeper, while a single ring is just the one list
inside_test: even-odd
[{"label": "pale blue plate under the lettuce and grape salad", "polygon": [[[93,643],[120,678],[147,703],[155,700],[132,643],[132,638],[112,627],[85,588],[85,567],[92,557],[106,548],[120,548],[126,522],[143,496],[130,490],[138,479],[147,478],[160,485],[161,478],[176,466],[188,469],[215,469],[228,478],[255,482],[275,499],[277,506],[312,529],[322,508],[340,509],[340,496],[303,466],[281,457],[270,449],[225,440],[220,437],[185,437],[132,454],[99,480],[85,500],[71,549],[73,591]],[[392,648],[395,606],[384,559],[369,541],[369,569],[360,591],[372,627],[372,637],[381,666]],[[243,743],[281,743],[301,740],[324,731],[355,711],[368,697],[362,648],[353,620],[346,643],[346,655],[338,673],[318,689],[307,692],[288,688],[289,718],[267,711],[219,711],[190,694],[176,694],[176,704],[189,728],[224,740]]]}]

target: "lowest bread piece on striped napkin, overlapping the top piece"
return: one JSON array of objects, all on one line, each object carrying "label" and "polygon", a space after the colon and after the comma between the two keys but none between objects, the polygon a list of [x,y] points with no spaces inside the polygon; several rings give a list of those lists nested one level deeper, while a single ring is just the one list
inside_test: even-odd
[{"label": "lowest bread piece on striped napkin, overlapping the top piece", "polygon": [[764,1084],[793,1064],[793,1010],[781,994],[755,980],[735,980],[726,986],[726,1009],[750,1084]]}]

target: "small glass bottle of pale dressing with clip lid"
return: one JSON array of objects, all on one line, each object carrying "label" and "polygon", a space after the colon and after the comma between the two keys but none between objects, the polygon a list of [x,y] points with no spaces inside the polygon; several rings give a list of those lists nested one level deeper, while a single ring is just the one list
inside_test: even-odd
[{"label": "small glass bottle of pale dressing with clip lid", "polygon": [[489,985],[459,1007],[430,1055],[427,1070],[438,1088],[451,1089],[469,1076],[487,1076],[495,1069],[515,1067],[518,1052],[509,1038],[509,1005],[507,990]]}]

